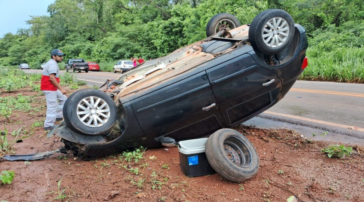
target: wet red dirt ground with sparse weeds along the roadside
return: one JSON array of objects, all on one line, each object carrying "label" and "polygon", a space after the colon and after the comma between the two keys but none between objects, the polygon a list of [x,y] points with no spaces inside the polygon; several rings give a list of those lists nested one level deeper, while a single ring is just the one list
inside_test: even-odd
[{"label": "wet red dirt ground with sparse weeds along the roadside", "polygon": [[[37,153],[63,146],[55,136],[47,139],[43,126],[32,127],[33,123],[44,121],[44,96],[26,88],[21,92],[3,92],[0,97],[16,96],[18,93],[35,96],[33,100],[37,102],[32,103],[32,106],[44,107],[36,113],[13,111],[9,120],[0,117],[0,130],[4,131],[6,126],[9,139],[13,130],[20,127],[26,129],[21,134],[30,136],[16,143],[14,152]],[[24,161],[1,160],[0,171],[13,170],[15,178],[9,185],[0,185],[0,200],[62,201],[55,198],[63,191],[63,195],[67,196],[63,201],[68,202],[285,202],[293,194],[304,202],[364,201],[363,156],[352,154],[343,159],[325,157],[320,149],[331,142],[305,144],[304,138],[293,131],[245,127],[234,129],[248,137],[260,157],[258,173],[245,182],[229,182],[218,174],[186,177],[180,169],[177,148],[146,149],[144,158],[138,163],[123,161],[120,154],[92,161],[79,161],[72,155],[54,154],[31,161],[30,165]],[[153,156],[155,158],[149,158]],[[139,174],[135,175],[123,166],[138,168]],[[279,174],[278,170],[284,173]],[[138,182],[141,182],[139,187]]]}]

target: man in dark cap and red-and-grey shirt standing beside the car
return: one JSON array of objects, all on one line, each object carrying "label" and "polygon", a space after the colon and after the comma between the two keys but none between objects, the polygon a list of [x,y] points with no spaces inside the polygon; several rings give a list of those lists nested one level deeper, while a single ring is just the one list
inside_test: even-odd
[{"label": "man in dark cap and red-and-grey shirt standing beside the car", "polygon": [[[42,79],[40,82],[40,90],[46,96],[47,115],[44,121],[44,130],[52,130],[55,128],[55,121],[63,120],[63,104],[67,100],[67,93],[59,85],[59,68],[58,63],[63,61],[61,50],[53,49],[51,51],[51,59],[44,65]],[[59,100],[59,104],[57,102]]]}]

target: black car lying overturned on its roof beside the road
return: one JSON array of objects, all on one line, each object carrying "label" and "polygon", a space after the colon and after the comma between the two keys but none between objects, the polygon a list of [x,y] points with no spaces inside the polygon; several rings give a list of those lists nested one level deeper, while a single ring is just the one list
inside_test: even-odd
[{"label": "black car lying overturned on its roof beside the road", "polygon": [[[233,15],[215,15],[206,35],[100,90],[73,93],[63,108],[64,121],[48,136],[56,134],[74,155],[86,158],[140,145],[174,145],[223,129],[219,136],[235,138],[222,138],[217,146],[227,157],[229,151],[237,154],[229,158],[238,166],[257,161],[257,170],[249,140],[224,128],[257,116],[285,96],[307,66],[305,29],[285,11],[270,9],[242,26]],[[104,93],[111,85],[116,88]]]}]

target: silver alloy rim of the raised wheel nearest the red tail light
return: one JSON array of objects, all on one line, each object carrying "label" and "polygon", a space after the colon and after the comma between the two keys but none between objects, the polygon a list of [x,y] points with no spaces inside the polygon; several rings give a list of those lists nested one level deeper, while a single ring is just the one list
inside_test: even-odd
[{"label": "silver alloy rim of the raised wheel nearest the red tail light", "polygon": [[265,45],[270,48],[280,47],[287,40],[289,25],[281,17],[273,17],[268,20],[262,31],[262,39]]}]

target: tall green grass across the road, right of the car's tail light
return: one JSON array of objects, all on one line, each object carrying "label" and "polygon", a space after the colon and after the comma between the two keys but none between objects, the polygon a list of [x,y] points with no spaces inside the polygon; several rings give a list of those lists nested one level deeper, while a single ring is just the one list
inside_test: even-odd
[{"label": "tall green grass across the road, right of the car's tail light", "polygon": [[312,47],[306,55],[308,67],[300,79],[364,83],[364,47],[337,48],[331,52]]}]

